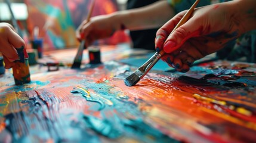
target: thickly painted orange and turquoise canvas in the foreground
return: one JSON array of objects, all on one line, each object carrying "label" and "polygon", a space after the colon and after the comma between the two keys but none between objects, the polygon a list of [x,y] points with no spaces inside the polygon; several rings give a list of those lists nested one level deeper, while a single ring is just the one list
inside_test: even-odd
[{"label": "thickly painted orange and turquoise canvas in the foreground", "polygon": [[6,142],[255,142],[256,65],[217,61],[186,73],[149,72],[116,61],[1,76],[0,139]]}]

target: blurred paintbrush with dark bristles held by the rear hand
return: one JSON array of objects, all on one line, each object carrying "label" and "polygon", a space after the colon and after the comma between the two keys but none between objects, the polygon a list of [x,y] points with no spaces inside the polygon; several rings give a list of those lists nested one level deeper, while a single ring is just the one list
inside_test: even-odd
[{"label": "blurred paintbrush with dark bristles held by the rear hand", "polygon": [[[92,10],[94,8],[94,3],[95,3],[95,0],[92,0],[91,8],[90,8],[90,11],[89,11],[89,13],[87,15],[87,22],[90,21],[91,13],[92,13]],[[74,60],[74,62],[72,64],[71,69],[79,69],[80,68],[82,57],[83,57],[84,46],[85,46],[85,39],[82,39],[82,41],[81,41],[81,43],[79,45],[79,48],[78,48],[78,52],[76,53],[76,57],[75,57],[75,60]]]}]

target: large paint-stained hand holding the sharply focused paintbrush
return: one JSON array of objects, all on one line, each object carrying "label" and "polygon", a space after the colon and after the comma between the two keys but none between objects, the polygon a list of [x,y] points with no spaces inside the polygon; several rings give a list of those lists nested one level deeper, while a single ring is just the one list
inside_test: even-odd
[{"label": "large paint-stained hand holding the sharply focused paintbrush", "polygon": [[232,2],[224,2],[197,8],[192,17],[170,36],[186,11],[169,20],[156,33],[156,51],[163,49],[166,52],[162,60],[177,71],[186,72],[195,60],[238,38],[244,29],[233,6]]}]

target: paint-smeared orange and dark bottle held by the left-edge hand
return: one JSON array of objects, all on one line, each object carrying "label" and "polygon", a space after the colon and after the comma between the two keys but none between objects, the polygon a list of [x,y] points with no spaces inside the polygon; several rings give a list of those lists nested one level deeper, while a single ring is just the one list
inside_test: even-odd
[{"label": "paint-smeared orange and dark bottle held by the left-edge hand", "polygon": [[29,56],[24,47],[17,49],[20,60],[15,61],[13,66],[13,77],[16,85],[23,85],[30,82]]}]

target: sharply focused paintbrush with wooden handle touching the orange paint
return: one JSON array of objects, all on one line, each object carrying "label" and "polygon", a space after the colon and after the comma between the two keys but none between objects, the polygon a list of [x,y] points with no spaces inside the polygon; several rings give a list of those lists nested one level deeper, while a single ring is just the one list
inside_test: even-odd
[{"label": "sharply focused paintbrush with wooden handle touching the orange paint", "polygon": [[[193,13],[196,5],[198,5],[198,2],[200,0],[196,0],[195,3],[192,5],[192,7],[189,8],[189,10],[187,11],[187,13],[181,18],[181,20],[179,21],[179,23],[174,27],[174,29],[172,30],[171,34],[181,25],[183,25],[184,23],[186,23],[187,20],[189,20],[190,15]],[[170,34],[170,35],[171,35]],[[170,36],[169,35],[169,36]],[[168,37],[169,37],[168,36]],[[165,54],[164,50],[160,51],[160,52],[156,52],[149,60],[146,61],[146,63],[144,63],[142,66],[140,66],[137,70],[134,71],[134,73],[132,73],[130,76],[128,76],[127,78],[125,78],[124,82],[125,85],[127,86],[134,86],[138,81],[140,81],[140,79],[142,79],[148,72],[150,69],[152,69],[152,67],[156,64],[156,62],[158,62],[158,60]]]}]

